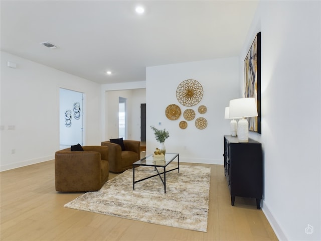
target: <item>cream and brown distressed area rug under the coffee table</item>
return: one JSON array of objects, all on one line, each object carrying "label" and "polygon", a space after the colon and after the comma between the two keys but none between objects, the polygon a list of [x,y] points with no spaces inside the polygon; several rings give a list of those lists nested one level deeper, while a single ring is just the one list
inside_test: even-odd
[{"label": "cream and brown distressed area rug under the coffee table", "polygon": [[[170,164],[167,170],[177,167]],[[163,170],[163,169],[162,169]],[[135,168],[135,180],[155,174],[152,167]],[[132,186],[132,169],[87,192],[64,207],[143,222],[207,231],[211,168],[180,165],[166,174],[166,193],[156,176]]]}]

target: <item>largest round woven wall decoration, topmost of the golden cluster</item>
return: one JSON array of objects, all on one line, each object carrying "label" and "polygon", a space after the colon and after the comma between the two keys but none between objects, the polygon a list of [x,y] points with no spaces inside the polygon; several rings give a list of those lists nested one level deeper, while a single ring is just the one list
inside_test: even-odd
[{"label": "largest round woven wall decoration, topmost of the golden cluster", "polygon": [[198,104],[203,97],[203,87],[194,79],[184,80],[177,87],[176,97],[184,106],[194,106]]}]

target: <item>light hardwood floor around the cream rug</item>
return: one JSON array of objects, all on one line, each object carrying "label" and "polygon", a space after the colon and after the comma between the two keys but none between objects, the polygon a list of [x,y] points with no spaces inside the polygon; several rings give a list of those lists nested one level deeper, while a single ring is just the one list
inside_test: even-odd
[{"label": "light hardwood floor around the cream rug", "polygon": [[254,199],[231,206],[223,166],[202,166],[212,170],[207,232],[64,208],[82,193],[55,191],[53,160],[1,172],[1,240],[277,240]]}]

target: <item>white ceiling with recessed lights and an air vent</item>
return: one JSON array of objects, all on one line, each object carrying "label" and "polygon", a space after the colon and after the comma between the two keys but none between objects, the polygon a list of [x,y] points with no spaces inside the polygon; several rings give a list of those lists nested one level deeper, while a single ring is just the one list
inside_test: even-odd
[{"label": "white ceiling with recessed lights and an air vent", "polygon": [[[135,13],[137,5],[144,14]],[[147,66],[238,56],[257,1],[1,1],[0,7],[2,51],[108,84],[144,81]],[[57,48],[41,44],[47,41]]]}]

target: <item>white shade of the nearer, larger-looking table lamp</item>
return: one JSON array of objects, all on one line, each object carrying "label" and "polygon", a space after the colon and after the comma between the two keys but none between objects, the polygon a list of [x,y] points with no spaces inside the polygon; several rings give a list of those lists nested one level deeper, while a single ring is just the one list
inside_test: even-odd
[{"label": "white shade of the nearer, larger-looking table lamp", "polygon": [[230,100],[229,117],[251,117],[257,116],[255,98],[239,98]]}]

